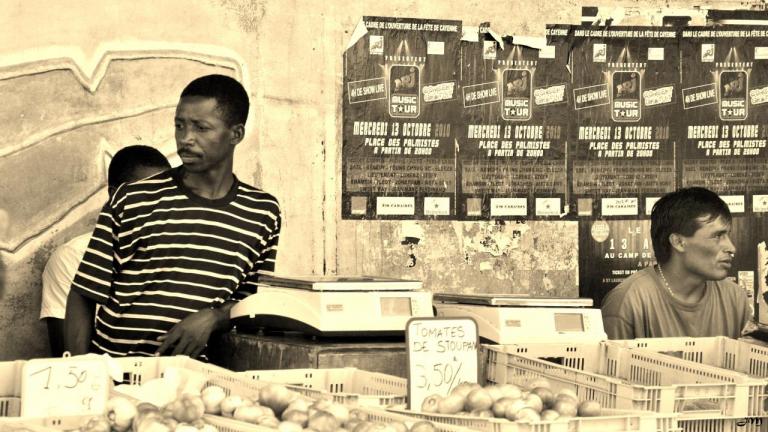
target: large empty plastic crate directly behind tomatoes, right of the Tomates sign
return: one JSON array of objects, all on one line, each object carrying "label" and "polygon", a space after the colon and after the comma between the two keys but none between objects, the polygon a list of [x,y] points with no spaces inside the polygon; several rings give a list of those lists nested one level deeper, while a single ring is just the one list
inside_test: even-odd
[{"label": "large empty plastic crate directly behind tomatoes, right of the Tomates sign", "polygon": [[714,366],[610,342],[487,348],[490,382],[525,384],[545,377],[553,388],[570,388],[605,408],[679,413],[681,421],[765,415],[761,380]]}]

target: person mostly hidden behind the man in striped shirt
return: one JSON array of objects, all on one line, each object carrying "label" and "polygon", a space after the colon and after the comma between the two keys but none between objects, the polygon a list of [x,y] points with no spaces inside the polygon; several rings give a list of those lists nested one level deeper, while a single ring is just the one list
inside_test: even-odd
[{"label": "person mostly hidden behind the man in striped shirt", "polygon": [[[107,169],[109,196],[123,183],[140,180],[171,168],[171,164],[157,149],[145,145],[131,145],[118,150]],[[53,251],[43,270],[43,292],[40,319],[48,327],[51,355],[61,357],[64,340],[64,313],[67,295],[77,266],[85,254],[91,233],[81,234]]]}]

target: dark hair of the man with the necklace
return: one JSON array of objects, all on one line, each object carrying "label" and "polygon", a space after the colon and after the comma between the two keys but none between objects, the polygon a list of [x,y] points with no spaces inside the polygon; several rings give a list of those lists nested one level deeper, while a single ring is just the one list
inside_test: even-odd
[{"label": "dark hair of the man with the necklace", "polygon": [[727,223],[732,220],[728,204],[716,193],[702,187],[678,189],[656,201],[651,212],[651,240],[659,264],[666,263],[672,256],[669,236],[692,236],[701,228],[698,219],[702,217],[708,217],[708,221],[722,217]]}]

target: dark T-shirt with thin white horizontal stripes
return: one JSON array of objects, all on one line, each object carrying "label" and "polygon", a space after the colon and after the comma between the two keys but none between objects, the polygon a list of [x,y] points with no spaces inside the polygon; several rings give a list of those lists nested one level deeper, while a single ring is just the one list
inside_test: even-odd
[{"label": "dark T-shirt with thin white horizontal stripes", "polygon": [[103,304],[92,349],[153,355],[187,315],[254,293],[274,271],[280,224],[275,197],[237,179],[217,200],[186,188],[179,168],[121,186],[72,283]]}]

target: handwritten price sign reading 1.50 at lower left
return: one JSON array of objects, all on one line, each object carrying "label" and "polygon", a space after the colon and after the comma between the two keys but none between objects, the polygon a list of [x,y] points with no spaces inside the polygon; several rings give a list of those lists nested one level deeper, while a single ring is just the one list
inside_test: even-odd
[{"label": "handwritten price sign reading 1.50 at lower left", "polygon": [[101,358],[29,360],[22,369],[21,415],[55,417],[101,414],[111,384]]}]

